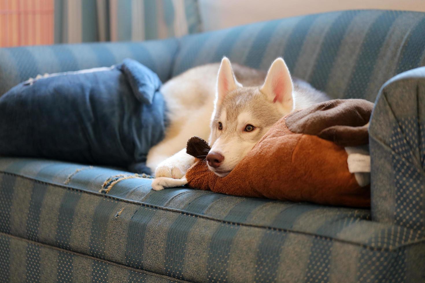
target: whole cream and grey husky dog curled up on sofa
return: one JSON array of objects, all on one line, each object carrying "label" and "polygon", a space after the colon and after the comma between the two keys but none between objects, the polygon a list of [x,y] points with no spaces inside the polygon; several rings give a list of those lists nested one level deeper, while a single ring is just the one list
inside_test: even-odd
[{"label": "whole cream and grey husky dog curled up on sofa", "polygon": [[[186,154],[190,137],[198,136],[211,146],[208,168],[224,177],[252,149],[270,127],[296,109],[329,100],[305,81],[291,79],[283,59],[276,59],[264,73],[234,64],[207,64],[187,70],[161,88],[169,126],[165,138],[150,149],[147,166],[158,182],[180,185],[195,162]],[[165,178],[164,178],[165,177]],[[167,181],[166,181],[167,180]]]}]

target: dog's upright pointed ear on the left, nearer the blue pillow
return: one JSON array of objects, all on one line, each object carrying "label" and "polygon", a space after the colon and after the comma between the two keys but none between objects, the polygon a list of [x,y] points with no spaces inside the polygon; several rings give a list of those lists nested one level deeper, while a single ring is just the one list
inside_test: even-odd
[{"label": "dog's upright pointed ear on the left, nearer the blue pillow", "polygon": [[232,65],[227,57],[221,60],[220,69],[217,76],[217,98],[215,103],[221,104],[227,93],[235,90],[242,85],[236,81],[235,74],[233,73]]}]

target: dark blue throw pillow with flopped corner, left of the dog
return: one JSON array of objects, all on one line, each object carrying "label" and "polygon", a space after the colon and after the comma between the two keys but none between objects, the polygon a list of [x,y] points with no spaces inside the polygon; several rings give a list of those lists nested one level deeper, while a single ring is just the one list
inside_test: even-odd
[{"label": "dark blue throw pillow with flopped corner, left of the dog", "polygon": [[0,155],[111,165],[150,174],[164,137],[156,73],[131,59],[30,79],[0,97]]}]

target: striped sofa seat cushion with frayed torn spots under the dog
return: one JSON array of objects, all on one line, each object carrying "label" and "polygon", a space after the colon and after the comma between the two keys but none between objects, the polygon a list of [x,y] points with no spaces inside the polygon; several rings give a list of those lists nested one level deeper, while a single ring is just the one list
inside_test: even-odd
[{"label": "striped sofa seat cushion with frayed torn spots under the dog", "polygon": [[423,233],[371,221],[369,210],[152,191],[151,181],[111,168],[0,158],[0,232],[196,282],[423,276]]}]

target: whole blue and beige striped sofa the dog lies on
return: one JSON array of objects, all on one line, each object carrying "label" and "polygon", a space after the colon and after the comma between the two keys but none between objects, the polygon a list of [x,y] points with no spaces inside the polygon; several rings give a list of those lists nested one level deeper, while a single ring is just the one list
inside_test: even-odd
[{"label": "whole blue and beige striped sofa the dog lies on", "polygon": [[3,48],[0,94],[39,73],[127,57],[166,81],[224,55],[263,70],[283,56],[333,98],[376,99],[371,209],[156,192],[119,168],[0,157],[1,282],[425,281],[425,13],[341,11],[160,41]]}]

